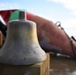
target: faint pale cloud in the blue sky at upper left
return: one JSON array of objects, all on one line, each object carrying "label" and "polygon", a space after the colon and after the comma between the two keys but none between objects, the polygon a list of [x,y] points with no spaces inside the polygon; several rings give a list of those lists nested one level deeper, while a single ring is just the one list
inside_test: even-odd
[{"label": "faint pale cloud in the blue sky at upper left", "polygon": [[19,5],[16,3],[0,3],[0,10],[7,10],[7,9],[18,9]]}]

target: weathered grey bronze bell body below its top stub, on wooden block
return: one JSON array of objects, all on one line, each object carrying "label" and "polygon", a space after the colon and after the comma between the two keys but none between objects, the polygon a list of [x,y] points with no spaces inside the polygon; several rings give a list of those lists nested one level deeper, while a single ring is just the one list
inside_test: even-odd
[{"label": "weathered grey bronze bell body below its top stub, on wooden block", "polygon": [[0,63],[30,65],[45,59],[46,54],[37,39],[36,23],[22,19],[10,21],[0,50]]}]

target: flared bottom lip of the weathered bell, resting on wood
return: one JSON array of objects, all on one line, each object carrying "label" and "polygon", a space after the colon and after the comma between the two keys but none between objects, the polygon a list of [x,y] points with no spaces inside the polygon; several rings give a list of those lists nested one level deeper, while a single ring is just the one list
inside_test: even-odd
[{"label": "flared bottom lip of the weathered bell, resting on wood", "polygon": [[39,58],[32,57],[28,59],[28,61],[25,61],[25,59],[10,59],[10,58],[0,57],[0,63],[7,64],[7,65],[33,65],[33,64],[37,64],[37,63],[45,61],[46,58],[47,58],[46,53],[40,56]]}]

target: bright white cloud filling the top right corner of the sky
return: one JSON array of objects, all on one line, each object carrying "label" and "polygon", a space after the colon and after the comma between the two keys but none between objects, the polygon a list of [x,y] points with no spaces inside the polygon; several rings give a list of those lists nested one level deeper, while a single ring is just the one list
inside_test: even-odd
[{"label": "bright white cloud filling the top right corner of the sky", "polygon": [[47,0],[63,4],[67,9],[71,10],[76,15],[76,0]]}]

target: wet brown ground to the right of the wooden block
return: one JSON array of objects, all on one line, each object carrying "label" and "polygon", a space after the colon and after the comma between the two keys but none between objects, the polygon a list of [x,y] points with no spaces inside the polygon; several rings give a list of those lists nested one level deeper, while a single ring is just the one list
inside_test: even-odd
[{"label": "wet brown ground to the right of the wooden block", "polygon": [[76,59],[51,55],[50,75],[76,75]]}]

